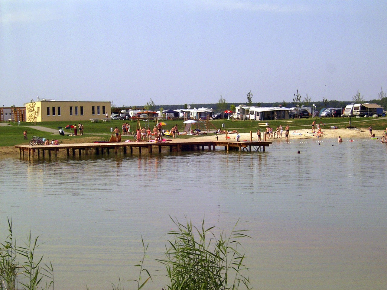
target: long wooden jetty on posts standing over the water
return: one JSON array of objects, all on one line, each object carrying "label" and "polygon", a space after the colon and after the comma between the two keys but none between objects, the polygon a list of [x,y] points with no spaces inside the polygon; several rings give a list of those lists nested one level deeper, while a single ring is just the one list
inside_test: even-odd
[{"label": "long wooden jetty on posts standing over the water", "polygon": [[48,155],[57,156],[58,152],[65,150],[67,156],[75,155],[90,155],[90,154],[118,154],[119,151],[123,151],[123,154],[133,153],[133,148],[137,148],[139,153],[142,150],[147,150],[148,153],[152,153],[154,148],[161,153],[161,149],[168,148],[170,152],[176,151],[200,151],[208,148],[209,151],[215,150],[215,147],[224,147],[224,150],[247,150],[265,151],[265,147],[269,146],[272,142],[258,142],[258,141],[208,141],[208,140],[187,140],[178,139],[167,142],[119,142],[119,143],[74,143],[74,144],[60,144],[60,145],[16,145],[16,148],[20,150],[20,157],[24,157],[25,152],[28,152],[28,158],[34,158]]}]

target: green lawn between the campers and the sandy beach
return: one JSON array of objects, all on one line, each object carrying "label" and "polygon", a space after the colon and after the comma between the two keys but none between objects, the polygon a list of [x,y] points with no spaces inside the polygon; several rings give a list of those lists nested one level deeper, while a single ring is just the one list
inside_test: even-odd
[{"label": "green lawn between the campers and the sandy beach", "polygon": [[[277,120],[277,121],[231,121],[227,119],[221,120],[211,120],[210,132],[214,132],[216,128],[222,128],[224,124],[225,130],[238,130],[240,133],[248,133],[250,131],[257,131],[258,125],[262,123],[269,123],[269,126],[272,128],[276,128],[279,125],[285,127],[289,124],[290,129],[306,129],[311,128],[313,120],[316,121],[316,124],[320,122],[325,125],[325,128],[329,126],[337,126],[339,128],[346,128],[348,126],[349,118],[309,118],[309,119],[291,119],[291,120]],[[159,119],[159,121],[163,121]],[[167,125],[164,126],[166,130],[169,130],[177,124],[179,131],[184,130],[184,124],[182,119],[178,120],[167,120]],[[387,118],[351,118],[352,126],[357,128],[368,128],[368,126],[372,126],[374,130],[384,130],[387,127]],[[110,128],[119,128],[121,130],[122,124],[126,121],[121,120],[112,120],[111,122],[98,122],[91,123],[90,121],[84,121],[82,124],[84,125],[84,133],[86,136],[94,136],[96,140],[103,140],[106,136],[110,136]],[[137,128],[137,121],[128,121],[130,124],[131,131],[135,131]],[[66,125],[71,125],[71,122],[40,122],[37,125],[44,126],[47,128],[51,128],[54,130],[58,130],[58,127],[65,128]],[[74,137],[67,136],[72,133],[74,130],[65,130],[66,136],[60,136],[58,133],[51,134],[43,131],[34,130],[31,128],[27,128],[28,131],[28,140],[24,140],[23,131],[26,129],[25,126],[33,125],[30,122],[22,122],[20,126],[17,124],[11,124],[11,126],[1,126],[0,127],[0,146],[14,146],[14,145],[22,145],[28,144],[28,141],[32,138],[33,135],[41,136],[47,139],[58,139],[58,140],[69,140]],[[77,122],[73,122],[73,125],[78,125]],[[148,126],[147,122],[140,121],[141,126]],[[149,127],[153,128],[154,121],[149,122]],[[194,124],[192,125],[192,129],[200,128],[201,130],[205,130],[204,123]],[[261,126],[262,129],[265,129],[265,126]],[[190,137],[190,136],[189,136]],[[82,137],[77,137],[78,140],[81,140]],[[123,140],[132,138],[123,136]],[[179,138],[187,138],[187,136],[179,136]],[[74,140],[74,139],[73,139]]]}]

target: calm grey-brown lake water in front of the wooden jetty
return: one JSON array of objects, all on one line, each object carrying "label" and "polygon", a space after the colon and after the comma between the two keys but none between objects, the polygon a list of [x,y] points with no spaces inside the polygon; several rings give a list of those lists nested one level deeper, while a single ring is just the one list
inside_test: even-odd
[{"label": "calm grey-brown lake water in front of the wooden jetty", "polygon": [[[262,152],[0,159],[0,237],[12,218],[55,269],[55,289],[111,289],[146,268],[161,289],[170,217],[243,241],[255,289],[387,288],[387,147],[375,140],[273,143]],[[333,146],[332,146],[333,145]],[[297,150],[301,154],[297,154]],[[133,285],[124,282],[125,289]]]}]

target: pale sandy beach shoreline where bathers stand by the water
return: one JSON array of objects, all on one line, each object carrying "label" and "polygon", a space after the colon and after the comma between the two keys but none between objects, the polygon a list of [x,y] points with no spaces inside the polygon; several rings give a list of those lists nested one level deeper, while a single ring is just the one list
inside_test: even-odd
[{"label": "pale sandy beach shoreline where bathers stand by the water", "polygon": [[[289,136],[290,141],[296,140],[296,139],[313,139],[313,138],[315,138],[316,140],[322,140],[325,138],[339,138],[339,136],[341,136],[343,141],[347,141],[347,140],[351,140],[351,139],[358,139],[358,138],[370,138],[368,130],[357,129],[357,128],[351,128],[351,129],[348,129],[348,128],[346,128],[346,129],[322,128],[322,133],[323,133],[322,137],[313,136],[311,129],[292,130],[290,127],[289,132],[290,132],[290,136]],[[372,133],[374,133],[378,139],[382,138],[382,136],[383,136],[382,130],[373,130]],[[261,132],[262,141],[263,141],[263,135],[264,135],[264,133]],[[252,132],[253,140],[256,140],[256,136],[257,136],[257,133]],[[216,140],[216,137],[218,138],[218,140],[222,140],[222,139],[225,140],[226,139],[225,134],[216,135],[214,133],[211,133],[211,131],[210,131],[210,133],[208,135],[204,135],[204,136],[195,136],[195,137],[184,138],[184,139],[176,138],[175,140],[173,140],[173,139],[171,139],[171,140],[173,140],[175,142],[187,142],[188,140],[200,138],[204,141],[205,140],[213,141],[213,140]],[[234,139],[236,139],[236,134],[235,133],[228,134],[228,137],[229,137],[230,141],[235,141]],[[95,138],[93,138],[93,139],[95,139]],[[250,133],[240,133],[240,140],[241,141],[250,140]],[[285,133],[283,133],[282,138],[267,139],[267,141],[274,141],[274,140],[285,140]],[[68,140],[68,141],[71,141],[71,140]],[[92,142],[92,140],[89,140],[89,141]],[[66,142],[64,142],[64,143],[70,143],[70,142],[67,142],[67,140],[66,140]],[[79,143],[79,142],[75,142],[75,143]],[[5,156],[5,155],[19,156],[19,149],[15,148],[14,146],[0,147],[0,156]]]}]

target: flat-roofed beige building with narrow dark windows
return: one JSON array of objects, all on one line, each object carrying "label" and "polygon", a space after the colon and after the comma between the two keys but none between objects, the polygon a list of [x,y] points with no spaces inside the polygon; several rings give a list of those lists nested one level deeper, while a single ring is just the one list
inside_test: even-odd
[{"label": "flat-roofed beige building with narrow dark windows", "polygon": [[[84,121],[110,118],[110,102],[40,100],[26,104],[27,122]],[[36,118],[36,119],[35,119]]]}]

